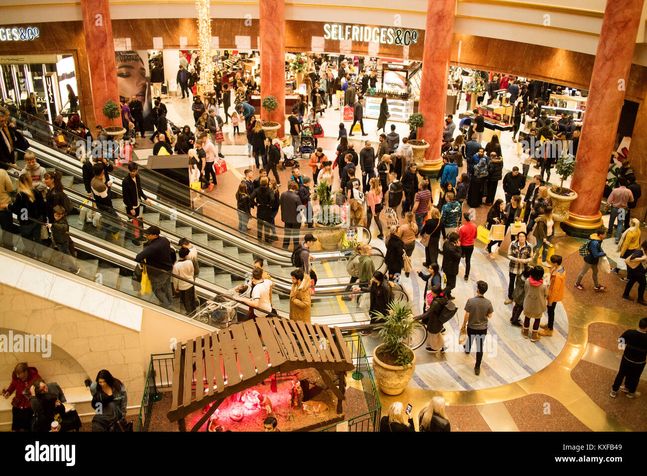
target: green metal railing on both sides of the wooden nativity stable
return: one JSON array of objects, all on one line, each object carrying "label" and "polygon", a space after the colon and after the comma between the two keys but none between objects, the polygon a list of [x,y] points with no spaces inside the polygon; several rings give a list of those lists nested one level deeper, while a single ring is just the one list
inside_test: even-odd
[{"label": "green metal railing on both sides of the wooden nativity stable", "polygon": [[[378,420],[382,404],[378,396],[375,380],[371,366],[368,363],[364,344],[359,334],[345,335],[344,340],[355,363],[355,371],[352,378],[362,383],[362,391],[366,398],[366,413],[354,416],[348,420],[348,431],[378,431]],[[148,373],[144,382],[144,396],[142,405],[139,410],[136,431],[148,431],[151,414],[153,413],[153,403],[159,402],[161,398],[160,391],[171,391],[173,378],[173,354],[153,354],[148,365]],[[195,378],[192,384],[195,383]],[[326,427],[320,431],[335,431],[339,423]]]}]

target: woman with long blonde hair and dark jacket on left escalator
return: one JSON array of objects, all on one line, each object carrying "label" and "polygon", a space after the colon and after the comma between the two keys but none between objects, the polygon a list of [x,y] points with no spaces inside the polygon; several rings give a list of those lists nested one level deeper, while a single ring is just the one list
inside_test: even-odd
[{"label": "woman with long blonde hair and dark jacket on left escalator", "polygon": [[[12,205],[12,212],[18,216],[20,236],[23,238],[26,253],[32,258],[35,256],[40,259],[43,255],[43,242],[41,241],[43,225],[34,220],[45,221],[45,200],[43,194],[33,187],[32,177],[29,174],[18,177],[18,193]],[[36,246],[30,244],[29,241],[36,242]]]}]

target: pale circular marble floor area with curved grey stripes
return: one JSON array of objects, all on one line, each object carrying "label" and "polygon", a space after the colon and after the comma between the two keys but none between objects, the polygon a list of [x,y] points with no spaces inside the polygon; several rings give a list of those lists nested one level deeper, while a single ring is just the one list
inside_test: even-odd
[{"label": "pale circular marble floor area with curved grey stripes", "polygon": [[[474,374],[476,352],[472,350],[466,355],[463,347],[458,344],[459,322],[456,318],[445,325],[445,343],[448,349],[444,354],[436,356],[424,350],[424,346],[416,350],[415,374],[409,386],[417,389],[435,391],[479,390],[498,387],[531,376],[542,370],[562,352],[568,337],[568,319],[562,304],[558,304],[555,313],[555,326],[552,337],[542,337],[538,342],[524,339],[521,329],[510,326],[512,304],[505,305],[508,289],[508,264],[503,256],[495,260],[488,258],[485,249],[476,245],[472,255],[470,280],[465,282],[465,264],[461,261],[459,276],[453,294],[460,323],[465,315],[465,302],[476,295],[477,280],[488,282],[485,297],[492,301],[494,313],[488,326],[487,348],[481,363],[481,374]],[[482,245],[481,245],[482,246]],[[441,255],[442,256],[442,255]],[[441,260],[439,256],[439,260]],[[422,269],[424,249],[417,245],[413,253],[413,269]],[[417,306],[415,312],[422,308],[422,293],[424,281],[411,273],[410,278],[402,278],[402,284]],[[543,319],[545,323],[547,318]],[[362,336],[367,352],[372,352],[378,345],[377,333]]]}]

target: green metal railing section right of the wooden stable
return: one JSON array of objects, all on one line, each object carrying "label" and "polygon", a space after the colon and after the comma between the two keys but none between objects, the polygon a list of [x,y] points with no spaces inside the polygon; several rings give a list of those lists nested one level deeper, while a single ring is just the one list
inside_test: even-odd
[{"label": "green metal railing section right of the wooden stable", "polygon": [[[362,337],[359,334],[345,335],[344,340],[351,350],[353,362],[355,363],[353,379],[361,381],[362,391],[364,392],[364,398],[366,398],[366,406],[368,408],[366,413],[344,420],[348,422],[347,431],[378,431],[382,403],[380,403],[380,396],[375,386],[375,380],[373,380],[373,373],[371,372],[371,366],[368,363],[368,357],[364,350]],[[336,431],[338,425],[340,423],[325,427],[320,431]]]}]

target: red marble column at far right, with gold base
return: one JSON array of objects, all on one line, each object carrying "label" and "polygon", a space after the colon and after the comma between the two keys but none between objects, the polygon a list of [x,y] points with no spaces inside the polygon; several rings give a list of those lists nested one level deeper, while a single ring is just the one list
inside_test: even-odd
[{"label": "red marble column at far right, with gold base", "polygon": [[571,188],[578,194],[567,227],[591,230],[602,225],[600,200],[609,170],[643,0],[607,0],[591,73],[578,165]]}]

